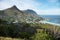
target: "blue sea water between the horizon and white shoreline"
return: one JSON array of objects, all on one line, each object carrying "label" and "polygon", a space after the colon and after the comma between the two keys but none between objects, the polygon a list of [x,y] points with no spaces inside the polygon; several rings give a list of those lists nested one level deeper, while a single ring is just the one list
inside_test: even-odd
[{"label": "blue sea water between the horizon and white shoreline", "polygon": [[47,22],[60,24],[60,15],[40,15],[43,18],[47,18]]}]

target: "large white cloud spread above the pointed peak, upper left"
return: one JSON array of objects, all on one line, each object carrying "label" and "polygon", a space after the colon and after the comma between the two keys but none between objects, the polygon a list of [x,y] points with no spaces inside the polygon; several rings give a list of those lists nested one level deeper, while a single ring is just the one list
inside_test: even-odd
[{"label": "large white cloud spread above the pointed peak, upper left", "polygon": [[[34,0],[4,0],[0,2],[0,9],[8,8],[11,5],[16,5],[19,9],[34,9],[38,5],[42,5],[41,3],[37,3]],[[5,7],[4,7],[5,6]]]}]

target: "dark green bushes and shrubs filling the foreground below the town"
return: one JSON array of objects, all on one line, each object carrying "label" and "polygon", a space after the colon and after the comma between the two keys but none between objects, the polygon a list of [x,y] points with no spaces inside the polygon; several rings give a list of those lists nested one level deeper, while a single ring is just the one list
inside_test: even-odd
[{"label": "dark green bushes and shrubs filling the foreground below the town", "polygon": [[[53,32],[47,24],[38,24],[38,23],[10,23],[0,19],[0,36],[24,39],[24,40],[56,40],[53,34],[48,32]],[[47,29],[51,31],[47,31]],[[55,32],[57,32],[55,30]],[[2,38],[0,38],[2,39]]]}]

